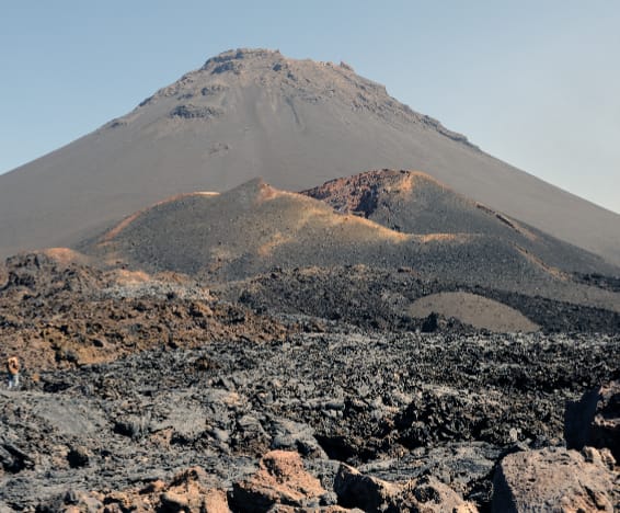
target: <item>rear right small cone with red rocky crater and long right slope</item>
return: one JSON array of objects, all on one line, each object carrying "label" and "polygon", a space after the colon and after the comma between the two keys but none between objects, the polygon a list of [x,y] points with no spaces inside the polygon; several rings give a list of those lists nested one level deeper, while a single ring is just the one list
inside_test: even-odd
[{"label": "rear right small cone with red rocky crater and long right slope", "polygon": [[562,271],[615,275],[600,256],[516,221],[415,171],[376,170],[330,180],[302,194],[405,233],[470,233],[509,241],[524,254]]}]

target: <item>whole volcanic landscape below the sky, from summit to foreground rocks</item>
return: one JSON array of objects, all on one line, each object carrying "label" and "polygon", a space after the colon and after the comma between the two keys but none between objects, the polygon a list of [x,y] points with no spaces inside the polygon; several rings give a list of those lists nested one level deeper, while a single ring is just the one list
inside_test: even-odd
[{"label": "whole volcanic landscape below the sky, from summit to foreground rocks", "polygon": [[0,252],[56,246],[0,261],[0,512],[620,511],[619,221],[347,65],[209,59],[0,176]]}]

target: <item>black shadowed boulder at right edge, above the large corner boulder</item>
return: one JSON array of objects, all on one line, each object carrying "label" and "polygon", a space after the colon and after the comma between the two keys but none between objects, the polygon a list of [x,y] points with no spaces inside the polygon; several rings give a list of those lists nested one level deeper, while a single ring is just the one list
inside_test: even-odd
[{"label": "black shadowed boulder at right edge, above the large corner boulder", "polygon": [[620,381],[610,381],[569,403],[564,436],[570,448],[608,447],[620,460]]}]

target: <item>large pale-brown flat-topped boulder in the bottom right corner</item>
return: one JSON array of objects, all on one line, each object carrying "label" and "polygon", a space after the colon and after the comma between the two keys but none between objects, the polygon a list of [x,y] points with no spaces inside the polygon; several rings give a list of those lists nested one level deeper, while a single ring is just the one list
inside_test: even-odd
[{"label": "large pale-brown flat-topped boulder in the bottom right corner", "polygon": [[620,476],[605,453],[547,447],[507,455],[495,472],[492,511],[615,511]]}]

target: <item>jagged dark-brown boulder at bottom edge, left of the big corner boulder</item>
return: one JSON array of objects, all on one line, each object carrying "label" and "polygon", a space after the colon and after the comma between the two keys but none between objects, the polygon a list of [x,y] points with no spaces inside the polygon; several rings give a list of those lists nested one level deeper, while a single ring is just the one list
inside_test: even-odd
[{"label": "jagged dark-brown boulder at bottom edge, left of the big corner boulder", "polygon": [[366,476],[348,465],[341,464],[334,480],[338,504],[359,508],[366,512],[424,511],[473,513],[478,509],[466,502],[448,486],[432,477],[403,482],[389,482]]}]

